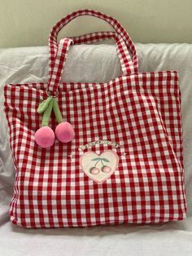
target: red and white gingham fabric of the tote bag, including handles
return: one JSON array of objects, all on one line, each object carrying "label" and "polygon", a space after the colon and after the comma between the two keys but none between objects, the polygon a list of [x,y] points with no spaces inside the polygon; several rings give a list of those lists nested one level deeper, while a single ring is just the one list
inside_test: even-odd
[{"label": "red and white gingham fabric of the tote bag, including handles", "polygon": [[[55,43],[63,25],[78,15],[107,20],[116,33]],[[97,11],[76,11],[53,31],[49,82],[6,85],[4,89],[16,170],[11,221],[22,227],[87,227],[185,218],[177,71],[137,73],[137,55],[128,34],[116,20]],[[70,44],[110,37],[116,39],[126,74],[105,83],[59,82]],[[34,140],[41,126],[37,107],[46,99],[46,90],[58,91],[63,117],[75,130],[72,142],[55,140],[48,149]],[[55,130],[56,125],[52,117],[50,127]],[[82,149],[96,141],[115,142],[119,147],[92,143]],[[97,183],[81,169],[80,159],[85,152],[99,155],[107,150],[116,152],[119,165],[103,183]]]}]

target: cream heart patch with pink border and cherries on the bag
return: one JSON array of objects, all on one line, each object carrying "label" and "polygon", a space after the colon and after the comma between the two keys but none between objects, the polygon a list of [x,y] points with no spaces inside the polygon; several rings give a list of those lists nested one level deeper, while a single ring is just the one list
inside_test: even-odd
[{"label": "cream heart patch with pink border and cherries on the bag", "polygon": [[113,150],[104,151],[98,155],[95,152],[85,152],[81,156],[81,169],[90,179],[103,183],[114,173],[119,163],[119,157]]}]

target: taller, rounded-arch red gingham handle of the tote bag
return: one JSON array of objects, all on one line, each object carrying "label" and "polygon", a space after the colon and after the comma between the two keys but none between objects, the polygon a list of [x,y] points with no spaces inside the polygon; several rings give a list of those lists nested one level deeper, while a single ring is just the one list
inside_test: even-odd
[{"label": "taller, rounded-arch red gingham handle of the tote bag", "polygon": [[53,29],[51,29],[50,38],[49,38],[49,48],[50,48],[49,74],[50,76],[55,64],[55,55],[58,47],[57,37],[58,37],[59,31],[63,29],[63,27],[67,25],[71,20],[74,20],[76,19],[76,17],[81,15],[90,15],[90,16],[97,17],[101,20],[105,20],[107,21],[108,24],[111,25],[113,29],[115,29],[116,33],[120,34],[120,37],[124,40],[126,46],[129,49],[130,54],[132,55],[134,72],[137,73],[138,72],[137,52],[131,38],[129,37],[129,34],[122,27],[122,25],[113,17],[109,15],[105,15],[102,12],[94,11],[91,9],[82,9],[82,10],[74,11],[71,14],[68,14],[63,19],[59,20],[59,22],[55,24]]}]

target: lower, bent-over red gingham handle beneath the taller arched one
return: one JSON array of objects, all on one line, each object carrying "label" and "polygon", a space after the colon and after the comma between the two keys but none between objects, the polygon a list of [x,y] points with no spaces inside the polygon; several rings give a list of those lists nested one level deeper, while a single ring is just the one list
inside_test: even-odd
[{"label": "lower, bent-over red gingham handle beneath the taller arched one", "polygon": [[[55,55],[55,64],[53,69],[51,70],[50,79],[47,85],[47,93],[48,95],[58,94],[58,86],[63,73],[63,66],[65,64],[69,46],[72,44],[81,44],[81,43],[89,43],[89,42],[97,42],[107,38],[114,38],[116,40],[116,51],[117,55],[120,59],[120,64],[122,68],[122,73],[124,75],[128,73],[134,72],[133,61],[129,55],[129,51],[125,45],[125,42],[116,32],[96,32],[96,33],[88,33],[77,37],[63,38],[59,42],[59,46],[57,48],[57,52]],[[123,75],[122,74],[122,75]]]}]

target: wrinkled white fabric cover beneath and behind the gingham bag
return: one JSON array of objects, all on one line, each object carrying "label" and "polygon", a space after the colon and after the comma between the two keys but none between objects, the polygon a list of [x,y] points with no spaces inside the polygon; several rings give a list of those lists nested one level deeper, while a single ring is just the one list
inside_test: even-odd
[{"label": "wrinkled white fabric cover beneath and behind the gingham bag", "polygon": [[[192,45],[137,44],[140,71],[174,69],[180,74],[184,132],[185,221],[162,225],[23,229],[9,222],[14,167],[3,113],[3,85],[46,82],[48,48],[0,50],[0,254],[2,255],[192,255]],[[106,82],[120,75],[115,46],[72,46],[64,81]]]}]

